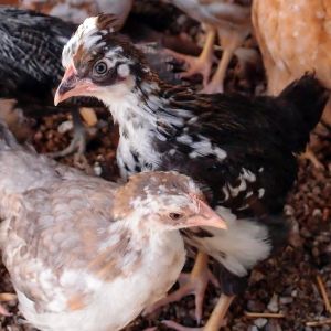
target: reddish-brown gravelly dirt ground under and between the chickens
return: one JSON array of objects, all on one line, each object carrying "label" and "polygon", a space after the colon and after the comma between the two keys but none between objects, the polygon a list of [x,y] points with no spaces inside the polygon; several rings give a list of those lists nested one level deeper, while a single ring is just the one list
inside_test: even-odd
[{"label": "reddish-brown gravelly dirt ground under and between the chickens", "polygon": [[[140,8],[139,8],[140,9]],[[141,10],[141,9],[140,9]],[[137,13],[138,12],[138,13]],[[136,9],[136,19],[139,19]],[[166,14],[166,13],[164,13]],[[171,13],[172,14],[172,13]],[[196,24],[182,19],[188,35],[199,38]],[[185,25],[186,24],[186,25]],[[153,26],[154,28],[154,26]],[[172,31],[179,28],[173,28]],[[169,29],[171,30],[171,29]],[[253,45],[252,40],[247,45]],[[260,63],[256,67],[243,71],[234,60],[227,75],[226,88],[243,93],[259,93],[265,79],[260,74]],[[60,134],[58,126],[68,120],[68,115],[53,115],[33,124],[32,143],[39,152],[50,152],[64,148],[71,132]],[[86,158],[92,169],[108,180],[116,180],[118,171],[115,152],[118,141],[117,128],[110,115],[103,114],[102,128],[89,137]],[[288,197],[285,212],[292,223],[290,244],[275,258],[260,264],[254,270],[245,295],[237,298],[227,316],[229,331],[311,331],[331,330],[331,309],[328,310],[317,278],[320,277],[327,295],[331,300],[331,143],[330,139],[320,141],[318,158],[324,170],[316,169],[308,161],[300,161],[298,181]],[[73,157],[60,160],[73,164]],[[192,261],[188,263],[188,268]],[[13,292],[9,275],[0,266],[0,293]],[[218,290],[210,286],[204,305],[204,323],[217,300]],[[0,330],[33,330],[25,325],[18,313],[17,301],[7,302],[13,312],[10,318],[0,317]],[[265,316],[250,317],[247,312],[276,313],[277,318]],[[127,330],[143,330],[158,327],[167,330],[160,321],[168,319],[186,327],[196,327],[194,321],[194,299],[192,296],[178,303],[164,307],[161,311],[147,318],[138,318]]]}]

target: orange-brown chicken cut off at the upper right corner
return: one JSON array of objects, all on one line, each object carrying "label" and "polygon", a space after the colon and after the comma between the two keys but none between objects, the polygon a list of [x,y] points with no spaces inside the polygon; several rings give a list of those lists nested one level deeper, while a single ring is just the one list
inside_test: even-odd
[{"label": "orange-brown chicken cut off at the upper right corner", "polygon": [[[278,95],[289,82],[314,71],[331,88],[331,1],[254,0],[253,25],[268,79],[268,94]],[[331,102],[322,120],[331,125]],[[314,166],[321,163],[308,150]]]}]

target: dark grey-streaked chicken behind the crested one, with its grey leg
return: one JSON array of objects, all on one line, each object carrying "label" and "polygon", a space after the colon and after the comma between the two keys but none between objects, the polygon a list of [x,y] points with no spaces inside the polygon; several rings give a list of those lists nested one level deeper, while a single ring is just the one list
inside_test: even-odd
[{"label": "dark grey-streaked chicken behind the crested one, with its grey leg", "polygon": [[[116,17],[117,29],[119,23]],[[15,99],[15,107],[33,118],[60,110],[71,111],[73,140],[66,149],[52,156],[64,157],[77,152],[76,161],[81,163],[85,159],[86,130],[78,109],[81,107],[81,114],[87,117],[87,121],[95,122],[94,113],[86,107],[104,106],[95,98],[82,97],[66,102],[60,108],[53,104],[54,90],[64,73],[62,50],[76,28],[75,24],[46,14],[0,7],[0,98]],[[141,44],[139,47],[166,81],[177,82],[171,64],[167,65],[171,58],[161,47],[153,43]]]}]

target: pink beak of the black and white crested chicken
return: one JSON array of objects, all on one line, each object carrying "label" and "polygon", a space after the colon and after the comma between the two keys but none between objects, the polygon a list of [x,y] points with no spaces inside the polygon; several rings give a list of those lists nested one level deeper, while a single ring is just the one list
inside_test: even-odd
[{"label": "pink beak of the black and white crested chicken", "polygon": [[95,90],[95,85],[88,78],[81,78],[77,75],[77,71],[74,64],[71,64],[57,87],[54,96],[54,105],[74,96],[92,96],[92,92]]}]

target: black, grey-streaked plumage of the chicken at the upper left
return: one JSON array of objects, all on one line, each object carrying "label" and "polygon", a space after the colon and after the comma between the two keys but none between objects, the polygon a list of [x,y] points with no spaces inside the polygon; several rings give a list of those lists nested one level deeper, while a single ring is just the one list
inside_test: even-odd
[{"label": "black, grey-streaked plumage of the chicken at the upper left", "polygon": [[17,99],[33,117],[100,106],[95,99],[79,98],[54,107],[53,93],[64,73],[62,50],[75,29],[54,17],[1,6],[0,97]]}]

